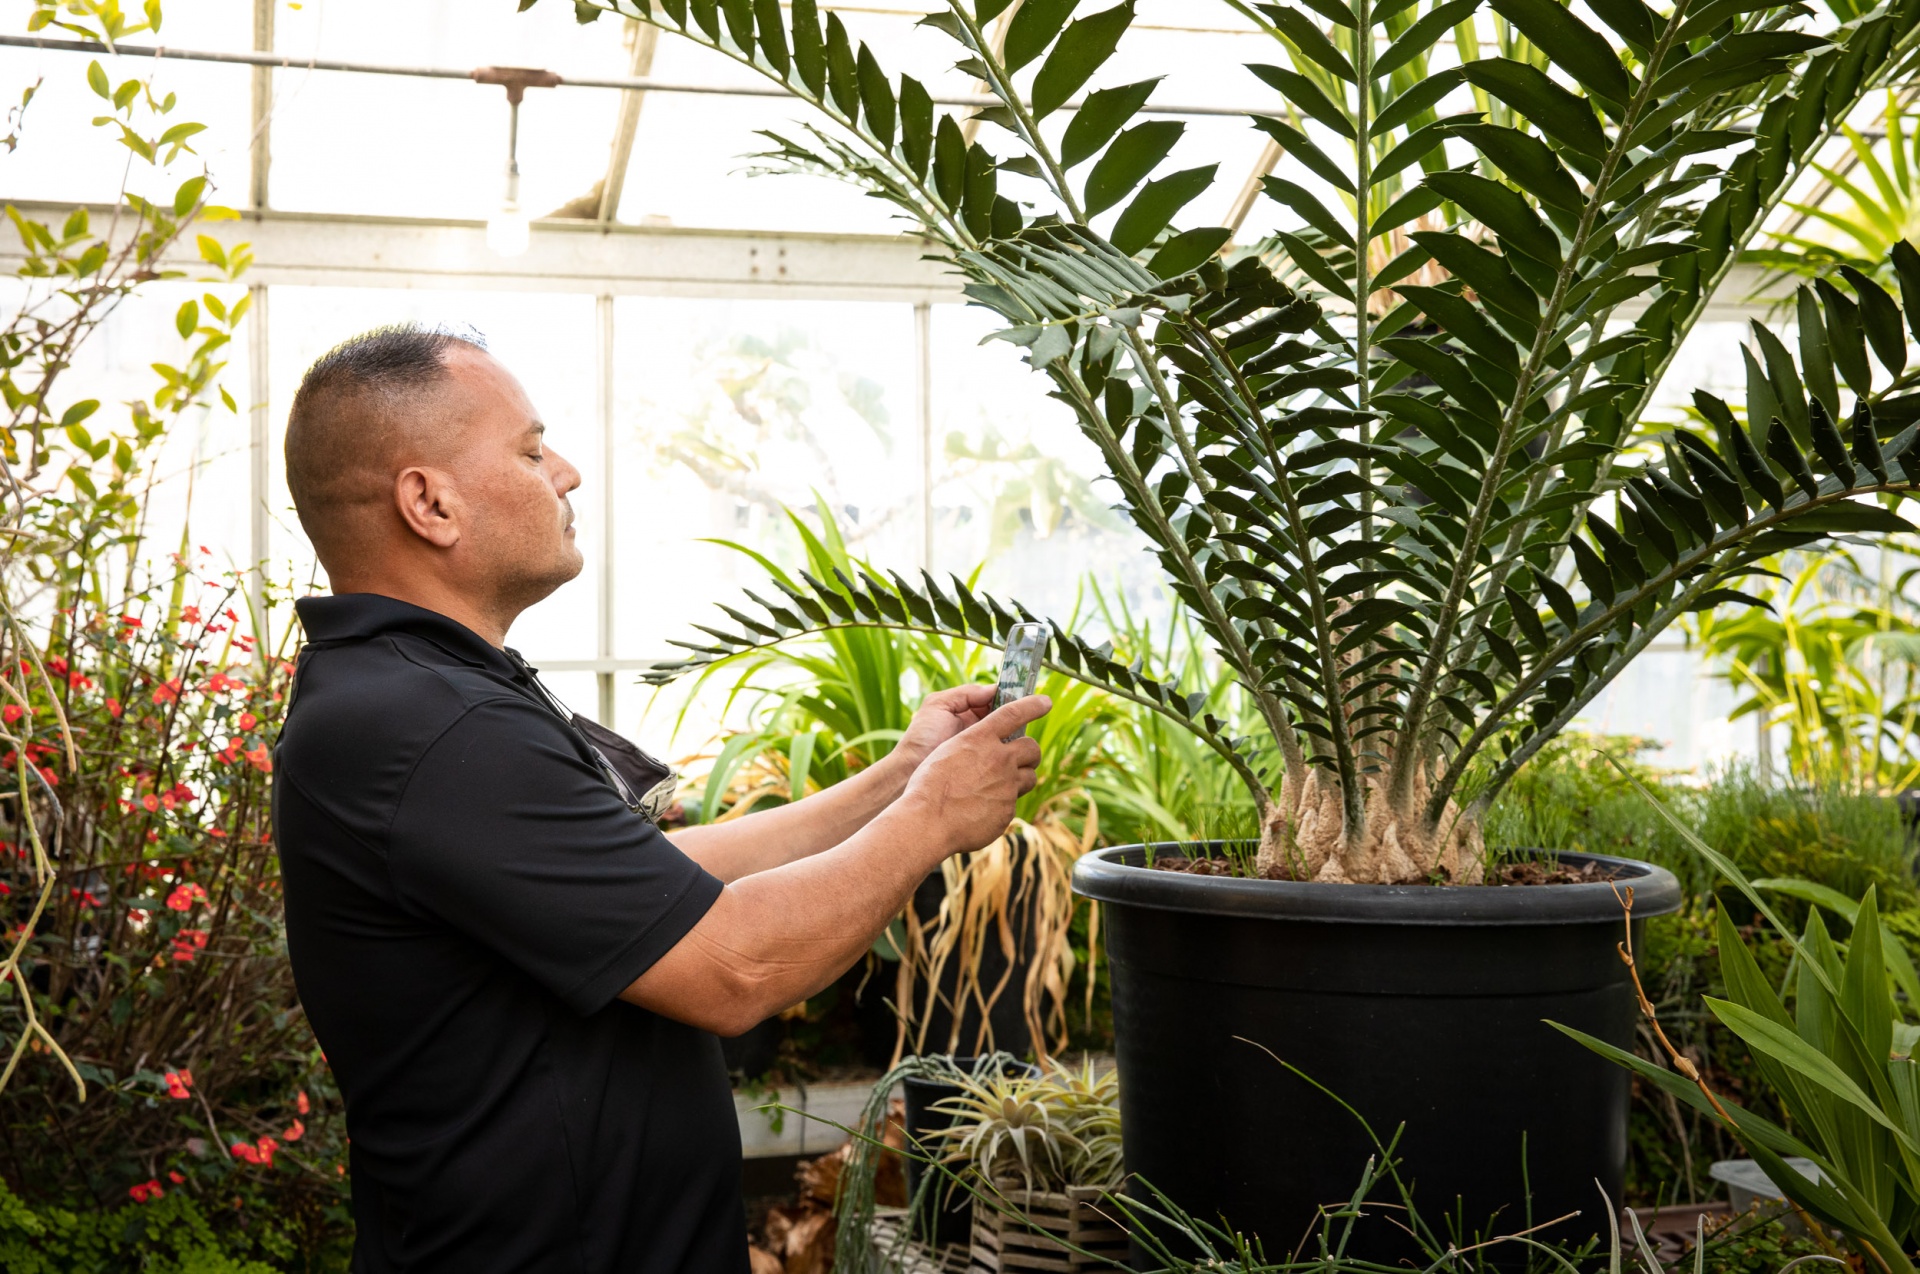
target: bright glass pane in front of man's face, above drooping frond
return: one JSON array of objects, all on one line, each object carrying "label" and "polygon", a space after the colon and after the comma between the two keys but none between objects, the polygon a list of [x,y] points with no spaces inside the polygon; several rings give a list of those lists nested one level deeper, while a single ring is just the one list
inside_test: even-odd
[{"label": "bright glass pane in front of man's face, above drooping frond", "polygon": [[826,505],[856,556],[918,566],[906,305],[622,297],[614,309],[618,652],[670,656],[714,601],[787,568],[785,508]]}]

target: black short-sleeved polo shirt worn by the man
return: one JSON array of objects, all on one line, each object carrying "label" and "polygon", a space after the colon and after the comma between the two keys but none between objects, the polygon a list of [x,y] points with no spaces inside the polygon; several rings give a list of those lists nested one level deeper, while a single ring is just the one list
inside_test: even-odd
[{"label": "black short-sleeved polo shirt worn by the man", "polygon": [[273,821],[355,1274],[745,1272],[720,1042],[616,1000],[720,883],[515,656],[390,597],[298,610]]}]

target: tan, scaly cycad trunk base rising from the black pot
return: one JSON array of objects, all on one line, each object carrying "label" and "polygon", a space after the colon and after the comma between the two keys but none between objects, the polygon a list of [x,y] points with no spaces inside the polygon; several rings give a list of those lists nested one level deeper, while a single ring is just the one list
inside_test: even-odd
[{"label": "tan, scaly cycad trunk base rising from the black pot", "polygon": [[1392,771],[1365,777],[1367,821],[1359,835],[1344,827],[1340,783],[1315,769],[1286,783],[1261,821],[1256,865],[1263,877],[1331,885],[1478,885],[1486,875],[1478,819],[1452,800],[1438,823],[1425,817],[1430,785],[1409,785],[1398,810],[1388,800]]}]

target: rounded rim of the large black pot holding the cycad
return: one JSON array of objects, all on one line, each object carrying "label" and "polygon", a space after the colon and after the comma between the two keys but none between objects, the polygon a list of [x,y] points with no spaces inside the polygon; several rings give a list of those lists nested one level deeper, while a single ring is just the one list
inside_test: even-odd
[{"label": "rounded rim of the large black pot holding the cycad", "polygon": [[[1092,850],[1073,863],[1073,892],[1154,911],[1240,915],[1248,919],[1317,921],[1329,925],[1594,925],[1619,923],[1620,898],[1609,881],[1586,885],[1325,885],[1317,881],[1250,881],[1150,871],[1146,850],[1187,856],[1196,842],[1117,844]],[[1198,842],[1213,850],[1225,842]],[[1536,850],[1546,854],[1546,850]],[[1636,858],[1557,852],[1571,863],[1619,867],[1619,883],[1634,888],[1634,917],[1680,909],[1674,873]]]}]

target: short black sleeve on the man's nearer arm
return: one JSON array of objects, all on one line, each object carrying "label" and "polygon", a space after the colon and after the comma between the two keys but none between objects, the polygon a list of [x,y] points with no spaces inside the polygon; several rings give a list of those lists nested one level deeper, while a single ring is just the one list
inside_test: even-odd
[{"label": "short black sleeve on the man's nearer arm", "polygon": [[664,956],[720,881],[618,798],[551,712],[470,708],[426,748],[388,837],[401,898],[593,1013]]}]

